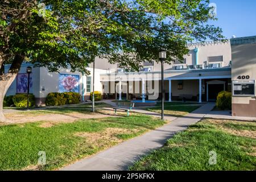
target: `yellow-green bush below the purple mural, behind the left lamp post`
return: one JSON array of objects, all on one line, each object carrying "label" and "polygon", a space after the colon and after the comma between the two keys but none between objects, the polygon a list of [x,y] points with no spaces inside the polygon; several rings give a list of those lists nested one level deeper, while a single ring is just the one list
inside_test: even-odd
[{"label": "yellow-green bush below the purple mural, behind the left lamp post", "polygon": [[[34,106],[35,105],[35,96],[33,94],[28,95],[29,102],[28,106]],[[27,107],[27,94],[20,93],[13,96],[13,103],[15,107]]]}]

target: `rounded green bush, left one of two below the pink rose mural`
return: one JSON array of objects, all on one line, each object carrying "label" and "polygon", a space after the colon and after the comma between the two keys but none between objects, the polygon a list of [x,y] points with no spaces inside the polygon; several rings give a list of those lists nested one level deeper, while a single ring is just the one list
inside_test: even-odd
[{"label": "rounded green bush, left one of two below the pink rose mural", "polygon": [[66,104],[67,98],[64,97],[63,93],[51,92],[46,97],[47,106],[60,106]]}]

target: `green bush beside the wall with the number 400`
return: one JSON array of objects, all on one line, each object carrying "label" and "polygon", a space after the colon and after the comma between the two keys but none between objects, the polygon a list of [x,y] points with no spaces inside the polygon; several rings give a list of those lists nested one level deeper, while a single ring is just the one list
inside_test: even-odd
[{"label": "green bush beside the wall with the number 400", "polygon": [[232,94],[231,92],[222,91],[218,93],[216,106],[221,110],[232,109]]}]

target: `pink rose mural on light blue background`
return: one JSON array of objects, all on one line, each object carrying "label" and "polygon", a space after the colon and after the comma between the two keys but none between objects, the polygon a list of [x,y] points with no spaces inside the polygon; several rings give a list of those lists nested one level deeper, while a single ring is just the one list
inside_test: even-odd
[{"label": "pink rose mural on light blue background", "polygon": [[59,92],[79,93],[79,75],[59,75]]}]

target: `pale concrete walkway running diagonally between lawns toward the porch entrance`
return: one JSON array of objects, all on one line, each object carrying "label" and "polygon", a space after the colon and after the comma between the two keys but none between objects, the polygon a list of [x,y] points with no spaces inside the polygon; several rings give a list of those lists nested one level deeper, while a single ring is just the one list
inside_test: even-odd
[{"label": "pale concrete walkway running diagonally between lawns toward the porch entrance", "polygon": [[[141,156],[162,147],[166,140],[173,137],[177,132],[183,131],[187,129],[189,125],[200,121],[205,114],[213,109],[214,105],[214,103],[206,104],[182,118],[165,116],[165,119],[172,122],[150,131],[141,137],[127,140],[108,150],[82,159],[61,170],[127,170],[128,167],[136,160],[140,159]],[[144,111],[144,114],[154,114],[154,116],[160,117],[160,114],[148,111]]]}]

